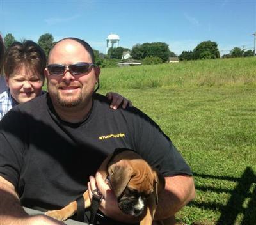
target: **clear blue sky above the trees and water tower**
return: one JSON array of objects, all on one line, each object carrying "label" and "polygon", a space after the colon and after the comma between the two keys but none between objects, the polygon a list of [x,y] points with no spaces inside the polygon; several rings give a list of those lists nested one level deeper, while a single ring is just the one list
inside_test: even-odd
[{"label": "clear blue sky above the trees and water tower", "polygon": [[38,41],[51,33],[54,40],[74,36],[106,53],[110,33],[120,46],[165,42],[175,54],[198,43],[218,43],[221,54],[234,47],[253,50],[256,31],[254,1],[12,1],[0,0],[0,32],[16,40]]}]

